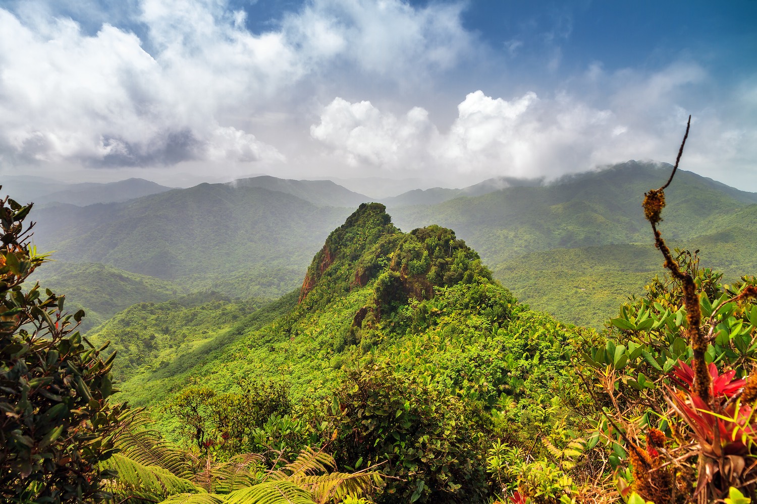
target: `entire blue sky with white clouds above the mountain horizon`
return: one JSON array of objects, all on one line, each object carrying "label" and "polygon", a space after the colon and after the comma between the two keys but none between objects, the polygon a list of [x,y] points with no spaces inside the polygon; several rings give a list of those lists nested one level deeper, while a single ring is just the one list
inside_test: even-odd
[{"label": "entire blue sky with white clouds above the mountain horizon", "polygon": [[757,0],[0,0],[0,178],[757,191]]}]

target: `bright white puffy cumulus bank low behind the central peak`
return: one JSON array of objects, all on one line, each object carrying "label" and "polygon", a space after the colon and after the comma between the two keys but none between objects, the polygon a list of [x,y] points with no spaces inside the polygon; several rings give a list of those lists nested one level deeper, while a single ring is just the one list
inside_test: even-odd
[{"label": "bright white puffy cumulus bank low behind the central peak", "polygon": [[591,141],[612,118],[569,97],[540,100],[534,92],[508,101],[475,91],[457,110],[457,119],[441,133],[422,108],[397,118],[366,101],[336,98],[310,134],[352,165],[527,177],[555,175],[571,160],[586,159]]}]

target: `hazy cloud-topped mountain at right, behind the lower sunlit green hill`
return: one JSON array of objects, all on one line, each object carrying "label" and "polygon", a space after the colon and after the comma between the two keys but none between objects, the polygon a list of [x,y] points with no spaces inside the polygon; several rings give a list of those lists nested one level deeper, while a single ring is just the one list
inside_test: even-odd
[{"label": "hazy cloud-topped mountain at right, behind the lower sunlit green hill", "polygon": [[[563,178],[540,187],[509,187],[475,198],[433,206],[391,209],[397,225],[413,228],[436,222],[452,227],[497,265],[530,252],[615,243],[649,243],[641,198],[670,175],[667,165],[626,162],[600,172]],[[706,233],[721,216],[747,206],[752,193],[723,190],[722,184],[679,172],[665,194],[666,237]]]}]

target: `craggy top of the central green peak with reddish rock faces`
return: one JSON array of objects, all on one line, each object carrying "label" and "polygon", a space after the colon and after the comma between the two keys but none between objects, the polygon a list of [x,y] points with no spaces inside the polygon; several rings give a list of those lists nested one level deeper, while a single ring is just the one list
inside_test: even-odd
[{"label": "craggy top of the central green peak with reddish rock faces", "polygon": [[[453,230],[435,224],[403,233],[391,224],[381,203],[363,203],[326,239],[307,270],[300,303],[317,308],[323,302],[372,285],[363,316],[376,318],[408,299],[428,299],[435,287],[491,281],[475,250]],[[357,319],[362,320],[362,317]]]}]

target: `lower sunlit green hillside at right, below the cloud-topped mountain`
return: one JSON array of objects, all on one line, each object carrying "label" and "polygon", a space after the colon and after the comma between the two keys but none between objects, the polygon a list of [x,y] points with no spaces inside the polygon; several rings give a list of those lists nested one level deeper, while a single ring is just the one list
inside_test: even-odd
[{"label": "lower sunlit green hillside at right, below the cloud-topped mountain", "polygon": [[[757,237],[749,231],[757,222],[757,205],[711,222],[702,226],[705,234],[671,240],[671,246],[699,250],[702,267],[720,271],[728,283],[757,274]],[[663,233],[668,227],[668,221],[662,223]],[[659,252],[651,243],[531,252],[494,267],[494,277],[521,301],[559,320],[597,328],[617,315],[628,296],[639,295],[652,277],[662,274]]]}]

